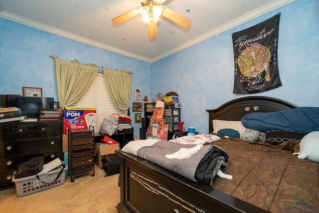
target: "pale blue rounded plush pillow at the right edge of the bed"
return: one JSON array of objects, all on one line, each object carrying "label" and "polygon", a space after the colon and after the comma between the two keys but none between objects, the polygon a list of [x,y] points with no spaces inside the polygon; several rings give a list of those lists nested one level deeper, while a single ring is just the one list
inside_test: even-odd
[{"label": "pale blue rounded plush pillow at the right edge of the bed", "polygon": [[298,158],[319,163],[319,131],[311,132],[301,140]]}]

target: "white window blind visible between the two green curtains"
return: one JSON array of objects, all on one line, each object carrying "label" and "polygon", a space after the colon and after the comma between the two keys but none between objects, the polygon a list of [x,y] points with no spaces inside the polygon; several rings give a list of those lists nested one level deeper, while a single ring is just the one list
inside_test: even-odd
[{"label": "white window blind visible between the two green curtains", "polygon": [[88,91],[79,102],[73,105],[74,107],[95,107],[96,118],[94,133],[99,133],[103,118],[113,113],[118,113],[125,116],[125,111],[120,111],[112,103],[109,90],[106,86],[104,75],[98,73],[91,84]]}]

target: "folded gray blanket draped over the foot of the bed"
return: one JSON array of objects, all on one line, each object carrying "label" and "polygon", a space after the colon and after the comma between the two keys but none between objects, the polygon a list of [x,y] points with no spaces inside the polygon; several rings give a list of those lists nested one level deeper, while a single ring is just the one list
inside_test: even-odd
[{"label": "folded gray blanket draped over the foot of the bed", "polygon": [[222,148],[213,145],[203,146],[189,158],[169,159],[165,157],[181,148],[193,148],[194,146],[161,140],[152,146],[140,148],[137,155],[189,180],[211,186],[218,170],[228,164],[229,156]]}]

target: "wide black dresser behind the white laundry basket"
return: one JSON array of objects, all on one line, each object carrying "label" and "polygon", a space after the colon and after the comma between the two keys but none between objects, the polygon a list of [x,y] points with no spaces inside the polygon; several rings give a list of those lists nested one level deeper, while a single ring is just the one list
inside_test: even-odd
[{"label": "wide black dresser behind the white laundry basket", "polygon": [[11,182],[17,166],[43,155],[44,163],[62,155],[63,121],[0,123],[0,190],[15,186]]}]

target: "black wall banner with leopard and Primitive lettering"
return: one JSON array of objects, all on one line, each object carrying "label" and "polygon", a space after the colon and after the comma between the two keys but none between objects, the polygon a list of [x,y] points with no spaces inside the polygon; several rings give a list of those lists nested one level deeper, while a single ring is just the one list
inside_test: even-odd
[{"label": "black wall banner with leopard and Primitive lettering", "polygon": [[250,28],[234,32],[235,94],[250,94],[282,86],[277,49],[280,13]]}]

